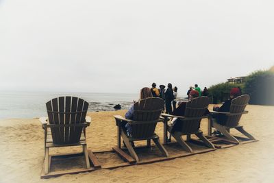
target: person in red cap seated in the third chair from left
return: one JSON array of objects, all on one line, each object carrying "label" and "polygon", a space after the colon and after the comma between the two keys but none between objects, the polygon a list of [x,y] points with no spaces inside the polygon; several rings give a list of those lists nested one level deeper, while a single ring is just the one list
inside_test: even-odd
[{"label": "person in red cap seated in the third chair from left", "polygon": [[[191,90],[189,93],[189,101],[192,99],[195,99],[197,97],[199,97],[199,92],[197,90]],[[187,101],[183,101],[181,103],[179,103],[179,106],[173,110],[173,112],[171,113],[171,115],[174,116],[180,116],[180,117],[184,117],[185,111],[186,111],[186,103]],[[204,115],[210,114],[209,110],[207,109]],[[176,130],[180,130],[182,127],[182,123],[184,123],[184,121],[181,121],[180,119],[177,119],[176,117],[173,118],[171,120],[171,125],[172,125],[172,132],[176,131]]]}]

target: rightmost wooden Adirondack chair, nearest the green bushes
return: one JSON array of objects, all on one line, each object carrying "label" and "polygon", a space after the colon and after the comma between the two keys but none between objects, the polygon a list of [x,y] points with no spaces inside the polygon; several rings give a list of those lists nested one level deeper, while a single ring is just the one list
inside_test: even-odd
[{"label": "rightmost wooden Adirondack chair, nearest the green bushes", "polygon": [[[251,134],[246,132],[242,125],[238,125],[240,118],[242,117],[242,114],[247,114],[248,112],[245,111],[245,107],[247,106],[247,103],[249,102],[249,95],[241,95],[239,97],[236,97],[235,99],[232,99],[232,103],[230,106],[229,112],[216,112],[216,111],[210,111],[212,114],[223,114],[225,115],[225,121],[224,125],[221,125],[217,123],[216,120],[211,120],[212,127],[215,127],[217,130],[219,130],[224,136],[226,136],[230,141],[234,141],[235,143],[240,143],[236,137],[234,137],[232,134],[229,133],[229,129],[235,128],[245,136],[247,136],[251,140],[255,140]],[[210,129],[211,134],[211,129]]]}]

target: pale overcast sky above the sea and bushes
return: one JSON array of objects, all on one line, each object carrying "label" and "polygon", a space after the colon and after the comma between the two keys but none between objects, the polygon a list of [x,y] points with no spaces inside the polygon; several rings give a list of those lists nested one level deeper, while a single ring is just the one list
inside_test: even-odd
[{"label": "pale overcast sky above the sea and bushes", "polygon": [[201,88],[274,65],[274,1],[0,0],[0,91]]}]

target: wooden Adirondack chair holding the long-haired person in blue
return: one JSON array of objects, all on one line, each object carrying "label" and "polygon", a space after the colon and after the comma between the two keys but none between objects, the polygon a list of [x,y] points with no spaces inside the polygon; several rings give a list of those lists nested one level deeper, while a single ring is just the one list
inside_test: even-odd
[{"label": "wooden Adirondack chair holding the long-haired person in blue", "polygon": [[[114,118],[116,120],[117,132],[118,132],[118,149],[115,147],[114,150],[123,156],[125,159],[127,158],[126,154],[121,151],[121,136],[129,151],[129,154],[136,160],[139,161],[139,158],[132,147],[133,141],[143,141],[147,140],[147,146],[150,147],[151,139],[160,149],[162,154],[166,157],[169,156],[164,146],[160,143],[159,136],[155,134],[155,127],[158,122],[162,109],[164,108],[164,100],[156,97],[151,97],[147,99],[142,99],[136,103],[134,103],[134,117],[133,120],[125,119],[119,115],[115,115]],[[130,125],[132,125],[132,136],[128,136],[125,129],[121,127],[121,123],[123,121],[127,121]]]}]

